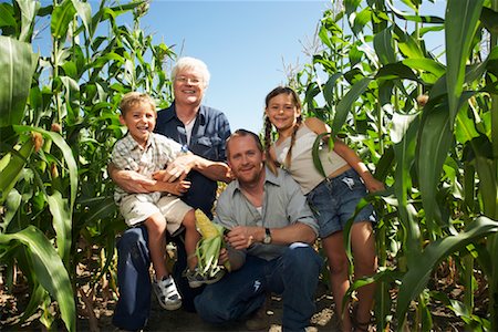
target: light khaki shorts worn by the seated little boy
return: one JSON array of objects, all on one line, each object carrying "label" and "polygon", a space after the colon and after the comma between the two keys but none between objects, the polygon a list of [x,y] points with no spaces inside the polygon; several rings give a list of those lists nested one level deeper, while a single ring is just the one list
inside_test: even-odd
[{"label": "light khaki shorts worn by the seated little boy", "polygon": [[154,214],[162,214],[166,219],[166,228],[172,235],[178,230],[185,215],[191,210],[177,196],[163,196],[159,200],[147,194],[133,194],[124,197],[120,204],[120,212],[126,225],[134,227],[144,222]]}]

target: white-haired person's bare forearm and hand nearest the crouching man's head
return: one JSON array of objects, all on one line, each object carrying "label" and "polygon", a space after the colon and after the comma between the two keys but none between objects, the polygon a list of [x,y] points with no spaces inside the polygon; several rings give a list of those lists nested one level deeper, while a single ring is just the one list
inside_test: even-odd
[{"label": "white-haired person's bare forearm and hand nearest the crouching man's head", "polygon": [[211,162],[194,154],[186,154],[177,157],[169,163],[166,169],[156,173],[154,178],[170,183],[178,178],[184,179],[191,169],[199,172],[212,180],[225,183],[231,180],[227,164],[222,162]]}]

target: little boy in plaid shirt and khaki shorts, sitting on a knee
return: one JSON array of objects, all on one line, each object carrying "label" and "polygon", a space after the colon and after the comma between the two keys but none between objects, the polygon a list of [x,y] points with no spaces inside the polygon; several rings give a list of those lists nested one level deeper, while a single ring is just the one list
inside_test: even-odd
[{"label": "little boy in plaid shirt and khaki shorts, sitting on a knee", "polygon": [[[196,230],[194,209],[177,197],[188,190],[190,183],[164,183],[153,179],[158,177],[159,170],[168,163],[185,152],[175,141],[153,133],[157,114],[154,100],[147,94],[125,94],[120,108],[120,122],[126,125],[128,133],[114,145],[111,162],[118,169],[136,172],[134,176],[144,179],[143,186],[149,193],[129,194],[116,187],[114,199],[128,226],[134,227],[141,222],[145,225],[155,271],[154,292],[164,309],[176,310],[181,307],[181,297],[165,264],[166,230],[173,235],[180,231],[181,225],[185,227],[185,248],[189,257],[186,273],[189,286],[195,288],[217,281],[203,279],[196,273],[195,250],[200,235]],[[169,194],[162,195],[160,191]]]}]

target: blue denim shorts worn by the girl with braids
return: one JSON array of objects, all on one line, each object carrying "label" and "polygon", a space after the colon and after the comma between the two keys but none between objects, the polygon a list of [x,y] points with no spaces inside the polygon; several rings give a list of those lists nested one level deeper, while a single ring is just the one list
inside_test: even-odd
[{"label": "blue denim shorts worn by the girl with braids", "polygon": [[[356,205],[366,196],[366,188],[357,173],[350,168],[334,178],[325,178],[308,195],[307,200],[320,226],[320,237],[343,230]],[[376,222],[372,205],[365,206],[354,218]]]}]

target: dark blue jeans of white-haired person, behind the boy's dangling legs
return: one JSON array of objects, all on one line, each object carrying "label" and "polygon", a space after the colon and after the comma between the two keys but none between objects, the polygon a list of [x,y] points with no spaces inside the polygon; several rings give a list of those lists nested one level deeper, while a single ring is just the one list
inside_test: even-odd
[{"label": "dark blue jeans of white-haired person, behind the boy's dangling legs", "polygon": [[[178,255],[173,277],[181,294],[184,309],[194,311],[194,298],[201,289],[190,289],[186,278],[181,277],[187,264],[187,255],[179,238],[173,240],[176,240]],[[151,314],[151,256],[147,243],[145,226],[125,230],[117,242],[120,298],[114,310],[113,324],[123,330],[143,329]]]}]

